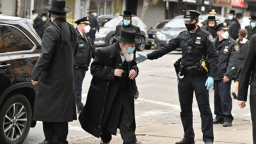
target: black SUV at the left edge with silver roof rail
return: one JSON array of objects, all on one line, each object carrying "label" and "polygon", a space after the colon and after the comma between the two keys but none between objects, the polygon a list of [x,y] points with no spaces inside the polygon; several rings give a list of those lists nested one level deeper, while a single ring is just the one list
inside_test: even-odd
[{"label": "black SUV at the left edge with silver roof rail", "polygon": [[0,143],[23,143],[35,127],[30,77],[40,52],[32,20],[0,14]]}]

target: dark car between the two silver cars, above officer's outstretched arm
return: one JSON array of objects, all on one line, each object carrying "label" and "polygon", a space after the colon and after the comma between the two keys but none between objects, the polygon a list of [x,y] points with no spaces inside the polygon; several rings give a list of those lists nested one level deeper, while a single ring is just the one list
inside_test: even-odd
[{"label": "dark car between the two silver cars, above officer's outstretched arm", "polygon": [[163,20],[161,22],[158,22],[154,26],[150,27],[148,31],[146,31],[146,33],[148,34],[148,43],[146,43],[145,49],[150,49],[151,46],[155,45],[154,37],[156,36],[156,32],[163,28],[163,26],[165,26],[165,24],[167,24],[167,22],[169,21],[170,20]]}]

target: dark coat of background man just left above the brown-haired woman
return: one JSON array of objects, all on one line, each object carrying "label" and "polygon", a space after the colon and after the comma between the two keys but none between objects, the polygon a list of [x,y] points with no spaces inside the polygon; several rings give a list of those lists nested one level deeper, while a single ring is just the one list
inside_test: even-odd
[{"label": "dark coat of background man just left above the brown-haired woman", "polygon": [[240,29],[241,25],[238,20],[233,20],[228,29],[229,36],[236,41],[236,39],[239,37]]}]

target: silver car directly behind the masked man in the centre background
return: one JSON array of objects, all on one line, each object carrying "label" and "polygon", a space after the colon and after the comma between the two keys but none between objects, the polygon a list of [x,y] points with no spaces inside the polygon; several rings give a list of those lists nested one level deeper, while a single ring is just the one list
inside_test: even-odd
[{"label": "silver car directly behind the masked man in the centre background", "polygon": [[[132,24],[140,27],[142,33],[142,44],[139,47],[139,51],[144,50],[145,41],[147,41],[148,35],[146,34],[146,25],[140,20],[139,17],[133,16]],[[107,22],[104,27],[100,28],[100,32],[96,33],[95,47],[109,46],[115,36],[116,26],[122,24],[123,16],[118,16]]]}]

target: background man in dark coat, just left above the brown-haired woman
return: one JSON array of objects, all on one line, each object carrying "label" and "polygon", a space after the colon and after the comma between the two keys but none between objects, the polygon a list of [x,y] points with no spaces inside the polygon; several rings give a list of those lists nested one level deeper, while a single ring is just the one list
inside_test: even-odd
[{"label": "background man in dark coat, just left above the brown-haired woman", "polygon": [[236,41],[239,37],[239,31],[241,29],[241,24],[243,23],[243,14],[236,13],[236,18],[231,22],[228,33],[229,36]]}]

